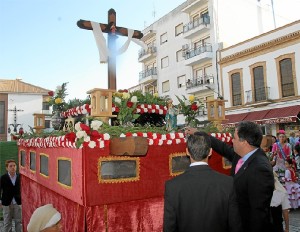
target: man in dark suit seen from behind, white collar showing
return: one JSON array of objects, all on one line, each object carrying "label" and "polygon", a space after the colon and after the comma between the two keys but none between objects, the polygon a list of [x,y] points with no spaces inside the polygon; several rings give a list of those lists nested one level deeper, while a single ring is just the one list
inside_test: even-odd
[{"label": "man in dark suit seen from behind, white collar showing", "polygon": [[233,178],[207,164],[212,154],[209,136],[189,136],[186,152],[190,167],[166,182],[164,232],[242,231]]}]

